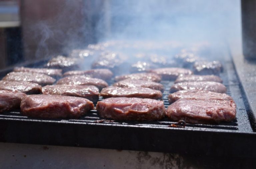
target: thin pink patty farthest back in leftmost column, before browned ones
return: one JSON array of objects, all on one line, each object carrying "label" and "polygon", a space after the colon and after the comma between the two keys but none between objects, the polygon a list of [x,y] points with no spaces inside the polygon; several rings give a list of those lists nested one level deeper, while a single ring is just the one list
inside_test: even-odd
[{"label": "thin pink patty farthest back in leftmost column, before browned ones", "polygon": [[61,69],[48,69],[48,68],[29,68],[29,67],[15,67],[13,69],[15,72],[35,72],[35,73],[43,73],[52,77],[62,76]]}]

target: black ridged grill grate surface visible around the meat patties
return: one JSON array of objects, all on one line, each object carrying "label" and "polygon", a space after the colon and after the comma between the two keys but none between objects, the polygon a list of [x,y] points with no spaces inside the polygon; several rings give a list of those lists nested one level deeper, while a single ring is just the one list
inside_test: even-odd
[{"label": "black ridged grill grate surface visible around the meat patties", "polygon": [[[246,114],[246,109],[244,104],[241,100],[241,93],[239,88],[239,81],[236,79],[230,80],[229,76],[234,76],[235,72],[228,72],[234,71],[234,67],[232,62],[226,62],[224,65],[224,71],[220,74],[220,77],[223,79],[223,84],[227,87],[227,94],[231,95],[235,103],[237,104],[237,118],[230,123],[220,123],[214,125],[202,125],[202,124],[186,124],[186,127],[180,129],[193,129],[193,130],[209,130],[209,131],[216,131],[216,130],[227,130],[227,131],[234,131],[234,132],[252,132],[250,127],[250,122],[248,120],[248,116]],[[169,89],[171,85],[173,85],[173,81],[162,81],[161,82],[165,86],[165,90],[163,92],[163,102],[165,107],[169,106],[168,102],[168,95]],[[100,97],[99,100],[102,100]],[[156,128],[168,128],[168,129],[175,129],[176,127],[171,127],[176,122],[171,122],[167,118],[161,121],[152,121],[152,122],[117,122],[117,121],[110,121],[104,120],[99,117],[96,110],[90,111],[85,116],[79,119],[35,119],[35,118],[28,118],[22,116],[18,111],[16,112],[5,112],[0,114],[0,119],[11,119],[11,120],[25,120],[25,121],[40,121],[40,122],[58,122],[58,123],[72,123],[72,124],[103,124],[103,125],[116,125],[116,126],[126,126],[126,127],[156,127]]]}]

